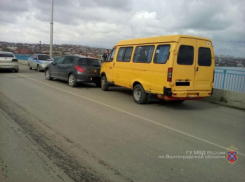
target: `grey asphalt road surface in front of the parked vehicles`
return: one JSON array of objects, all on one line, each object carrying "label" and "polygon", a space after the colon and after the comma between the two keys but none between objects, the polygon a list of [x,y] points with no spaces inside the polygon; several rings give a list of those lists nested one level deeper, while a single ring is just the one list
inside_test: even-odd
[{"label": "grey asphalt road surface in front of the parked vehicles", "polygon": [[0,73],[0,132],[0,181],[245,181],[245,111],[207,102],[137,105],[20,66]]}]

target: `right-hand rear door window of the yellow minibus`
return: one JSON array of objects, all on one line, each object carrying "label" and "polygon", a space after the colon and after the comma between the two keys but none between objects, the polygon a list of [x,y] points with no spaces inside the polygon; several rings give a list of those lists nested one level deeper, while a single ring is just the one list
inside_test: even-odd
[{"label": "right-hand rear door window of the yellow minibus", "polygon": [[205,47],[199,47],[198,49],[198,65],[199,66],[211,66],[211,50]]}]

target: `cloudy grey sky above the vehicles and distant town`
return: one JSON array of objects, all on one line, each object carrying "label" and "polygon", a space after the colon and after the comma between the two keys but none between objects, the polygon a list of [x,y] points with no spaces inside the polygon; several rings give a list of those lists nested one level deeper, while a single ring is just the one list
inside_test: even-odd
[{"label": "cloudy grey sky above the vehicles and distant town", "polygon": [[[49,43],[51,0],[0,0],[0,41]],[[118,41],[184,34],[216,55],[245,57],[245,0],[54,0],[54,44],[112,48]]]}]

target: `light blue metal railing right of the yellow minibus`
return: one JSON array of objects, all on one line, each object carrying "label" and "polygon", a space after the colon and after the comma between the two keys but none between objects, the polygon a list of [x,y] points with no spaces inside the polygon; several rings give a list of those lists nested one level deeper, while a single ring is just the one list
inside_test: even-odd
[{"label": "light blue metal railing right of the yellow minibus", "polygon": [[245,92],[245,70],[215,68],[214,88]]}]

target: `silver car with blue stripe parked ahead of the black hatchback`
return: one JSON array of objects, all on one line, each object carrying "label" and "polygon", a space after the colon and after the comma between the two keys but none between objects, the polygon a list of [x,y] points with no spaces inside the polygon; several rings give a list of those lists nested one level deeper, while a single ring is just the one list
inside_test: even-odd
[{"label": "silver car with blue stripe parked ahead of the black hatchback", "polygon": [[28,59],[29,69],[36,69],[37,71],[45,70],[46,66],[53,62],[53,59],[47,54],[33,54]]}]

